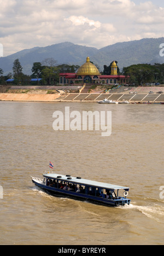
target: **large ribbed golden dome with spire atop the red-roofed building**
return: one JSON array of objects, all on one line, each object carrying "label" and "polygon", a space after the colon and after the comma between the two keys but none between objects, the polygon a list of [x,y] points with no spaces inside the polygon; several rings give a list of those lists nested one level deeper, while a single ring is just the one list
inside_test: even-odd
[{"label": "large ribbed golden dome with spire atop the red-roofed building", "polygon": [[77,75],[100,75],[98,68],[90,62],[90,58],[86,58],[86,62],[79,68]]}]

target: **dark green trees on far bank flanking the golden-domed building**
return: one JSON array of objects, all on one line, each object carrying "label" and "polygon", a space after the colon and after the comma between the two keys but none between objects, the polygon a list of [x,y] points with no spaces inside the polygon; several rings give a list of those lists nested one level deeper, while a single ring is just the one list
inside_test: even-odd
[{"label": "dark green trees on far bank flanking the golden-domed building", "polygon": [[[116,65],[118,66],[118,62]],[[110,75],[111,65],[104,65],[103,72],[101,74]],[[80,66],[78,65],[57,65],[57,61],[53,58],[44,59],[43,62],[34,62],[31,75],[26,75],[22,72],[22,66],[19,59],[16,59],[13,63],[13,74],[3,75],[3,70],[0,68],[0,84],[5,84],[5,81],[9,78],[14,78],[14,84],[27,85],[31,83],[32,78],[37,79],[37,84],[42,85],[55,85],[59,83],[59,73],[76,73]],[[164,83],[164,63],[150,64],[137,64],[124,67],[122,72],[118,67],[118,74],[130,77],[130,84],[142,85],[149,83]],[[39,82],[39,78],[42,80]]]}]

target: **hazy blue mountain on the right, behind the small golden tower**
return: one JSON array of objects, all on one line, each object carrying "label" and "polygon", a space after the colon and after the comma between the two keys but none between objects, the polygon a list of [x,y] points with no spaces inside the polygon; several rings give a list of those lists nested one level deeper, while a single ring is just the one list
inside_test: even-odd
[{"label": "hazy blue mountain on the right, behind the small golden tower", "polygon": [[103,66],[104,63],[116,60],[120,70],[139,63],[164,63],[164,57],[160,57],[161,43],[164,43],[164,38],[145,38],[109,45],[100,49],[94,56],[95,62],[99,60],[99,66]]}]

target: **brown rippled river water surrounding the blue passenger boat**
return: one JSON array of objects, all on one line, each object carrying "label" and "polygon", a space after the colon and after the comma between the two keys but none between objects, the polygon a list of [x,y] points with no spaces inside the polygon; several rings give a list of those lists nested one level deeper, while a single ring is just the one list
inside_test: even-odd
[{"label": "brown rippled river water surrounding the blue passenger boat", "polygon": [[[65,107],[112,111],[112,135],[54,131],[52,114]],[[0,102],[0,244],[163,245],[163,107]],[[57,173],[130,187],[131,205],[46,194],[30,176],[42,178],[49,161]]]}]

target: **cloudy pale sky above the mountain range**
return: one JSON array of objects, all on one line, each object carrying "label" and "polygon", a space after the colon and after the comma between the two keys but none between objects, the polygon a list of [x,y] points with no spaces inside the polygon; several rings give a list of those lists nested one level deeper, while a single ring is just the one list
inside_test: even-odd
[{"label": "cloudy pale sky above the mountain range", "polygon": [[100,49],[164,37],[163,0],[0,0],[0,6],[3,56],[62,42]]}]

